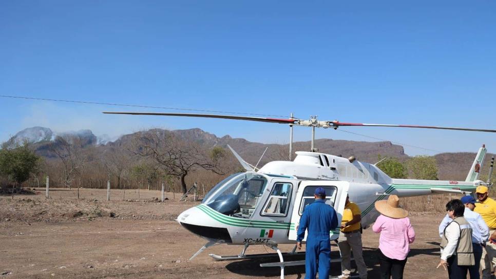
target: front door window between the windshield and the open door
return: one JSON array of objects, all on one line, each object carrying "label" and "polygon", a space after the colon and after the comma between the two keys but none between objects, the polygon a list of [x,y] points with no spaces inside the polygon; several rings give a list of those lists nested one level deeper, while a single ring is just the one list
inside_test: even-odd
[{"label": "front door window between the windshield and the open door", "polygon": [[286,216],[292,191],[293,185],[291,183],[274,184],[269,201],[262,210],[262,215]]}]

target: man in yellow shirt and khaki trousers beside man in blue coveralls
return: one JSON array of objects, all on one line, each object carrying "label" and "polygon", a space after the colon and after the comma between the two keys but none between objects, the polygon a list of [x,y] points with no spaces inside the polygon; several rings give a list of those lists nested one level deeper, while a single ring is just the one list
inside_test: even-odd
[{"label": "man in yellow shirt and khaki trousers beside man in blue coveralls", "polygon": [[367,278],[367,266],[361,246],[360,232],[361,211],[360,208],[350,202],[346,197],[345,210],[342,213],[341,233],[338,238],[339,250],[341,251],[342,278],[351,278],[351,251],[358,269],[360,279]]}]

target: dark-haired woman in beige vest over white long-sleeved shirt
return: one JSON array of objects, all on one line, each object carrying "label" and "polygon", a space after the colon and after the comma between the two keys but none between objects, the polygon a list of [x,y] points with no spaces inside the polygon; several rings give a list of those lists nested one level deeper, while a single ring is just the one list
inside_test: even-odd
[{"label": "dark-haired woman in beige vest over white long-sleeved shirt", "polygon": [[472,248],[472,229],[463,217],[465,206],[460,200],[451,200],[446,211],[452,221],[441,238],[441,261],[437,265],[448,270],[449,278],[467,278],[467,271],[475,264]]}]

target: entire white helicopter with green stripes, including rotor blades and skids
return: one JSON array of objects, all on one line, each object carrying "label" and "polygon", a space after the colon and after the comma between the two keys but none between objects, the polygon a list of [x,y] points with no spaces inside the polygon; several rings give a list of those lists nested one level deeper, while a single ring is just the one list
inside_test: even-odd
[{"label": "entire white helicopter with green stripes, including rotor blades and skids", "polygon": [[[235,173],[214,186],[202,203],[179,214],[177,222],[190,232],[201,236],[207,243],[189,260],[193,260],[208,247],[227,244],[243,246],[234,256],[209,254],[216,261],[241,260],[267,257],[268,254],[246,254],[251,245],[266,245],[276,251],[280,262],[260,264],[279,266],[281,278],[284,266],[304,265],[304,261],[284,262],[283,256],[299,254],[296,245],[289,253],[282,253],[279,244],[296,244],[297,226],[305,206],[314,201],[317,187],[326,190],[326,203],[333,206],[341,222],[346,197],[349,195],[361,210],[361,226],[366,229],[379,216],[374,203],[390,194],[399,197],[422,196],[440,193],[470,194],[480,185],[490,186],[492,162],[487,182],[479,180],[480,170],[487,153],[483,145],[475,156],[465,181],[412,180],[391,178],[377,164],[369,164],[349,158],[320,153],[315,148],[315,128],[338,129],[341,126],[375,126],[399,128],[425,128],[462,131],[496,132],[488,129],[454,128],[437,126],[413,126],[390,124],[343,123],[318,121],[312,116],[303,120],[291,115],[288,119],[236,115],[155,113],[155,112],[104,112],[108,114],[160,115],[226,118],[257,121],[290,126],[290,160],[292,156],[293,126],[312,128],[311,150],[297,151],[292,161],[273,161],[257,168],[227,146],[237,158],[245,172]],[[494,158],[492,158],[494,161]],[[337,241],[339,228],[330,232],[331,241]],[[306,236],[303,242],[306,241]],[[275,254],[273,254],[275,255]],[[333,259],[332,261],[339,261]]]}]

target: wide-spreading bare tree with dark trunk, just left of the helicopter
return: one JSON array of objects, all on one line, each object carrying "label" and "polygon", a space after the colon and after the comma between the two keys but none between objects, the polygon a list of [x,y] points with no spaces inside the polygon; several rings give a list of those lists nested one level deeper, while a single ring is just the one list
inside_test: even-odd
[{"label": "wide-spreading bare tree with dark trunk, just left of the helicopter", "polygon": [[150,130],[138,133],[135,137],[136,154],[151,157],[160,164],[166,175],[177,177],[181,181],[183,193],[186,193],[186,176],[198,169],[224,174],[218,167],[218,157],[223,152],[218,149],[208,152],[199,144],[178,138],[164,130]]}]

